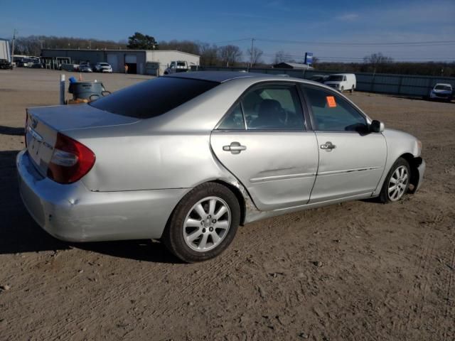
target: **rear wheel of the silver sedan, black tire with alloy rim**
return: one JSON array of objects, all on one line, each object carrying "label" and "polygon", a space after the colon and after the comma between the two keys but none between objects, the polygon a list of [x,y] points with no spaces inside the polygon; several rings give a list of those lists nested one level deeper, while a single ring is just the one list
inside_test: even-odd
[{"label": "rear wheel of the silver sedan, black tire with alloy rim", "polygon": [[240,205],[234,193],[218,183],[204,183],[178,203],[162,239],[182,261],[206,261],[228,248],[239,224]]}]

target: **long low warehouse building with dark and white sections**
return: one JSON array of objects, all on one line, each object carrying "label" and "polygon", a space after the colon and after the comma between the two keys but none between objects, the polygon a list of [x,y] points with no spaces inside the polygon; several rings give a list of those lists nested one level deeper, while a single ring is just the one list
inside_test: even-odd
[{"label": "long low warehouse building with dark and white sections", "polygon": [[78,49],[43,49],[43,60],[70,60],[69,63],[89,62],[109,63],[113,72],[124,72],[128,65],[128,73],[139,75],[163,75],[166,67],[173,60],[184,60],[188,67],[198,67],[200,57],[177,50],[78,50]]}]

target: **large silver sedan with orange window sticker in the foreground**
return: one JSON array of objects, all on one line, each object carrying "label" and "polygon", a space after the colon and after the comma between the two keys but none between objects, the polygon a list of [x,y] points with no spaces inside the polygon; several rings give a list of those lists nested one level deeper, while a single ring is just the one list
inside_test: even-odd
[{"label": "large silver sedan with orange window sticker in the foreground", "polygon": [[239,224],[397,202],[422,183],[421,148],[324,85],[188,72],[29,108],[16,165],[28,212],[53,236],[161,239],[193,262],[218,256]]}]

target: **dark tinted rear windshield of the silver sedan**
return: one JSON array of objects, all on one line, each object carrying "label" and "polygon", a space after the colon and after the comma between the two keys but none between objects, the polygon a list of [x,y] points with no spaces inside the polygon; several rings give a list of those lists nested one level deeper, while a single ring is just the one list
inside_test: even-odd
[{"label": "dark tinted rear windshield of the silver sedan", "polygon": [[149,119],[213,89],[218,82],[159,77],[141,82],[90,102],[92,107],[138,119]]}]

